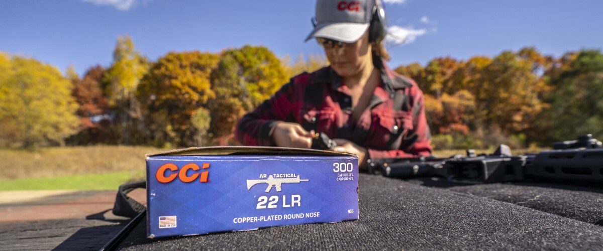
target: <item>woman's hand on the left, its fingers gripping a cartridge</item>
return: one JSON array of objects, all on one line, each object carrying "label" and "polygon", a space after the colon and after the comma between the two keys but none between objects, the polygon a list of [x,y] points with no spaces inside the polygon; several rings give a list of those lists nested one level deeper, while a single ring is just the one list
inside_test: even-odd
[{"label": "woman's hand on the left, its fingers gripping a cartridge", "polygon": [[277,123],[272,138],[280,147],[310,148],[312,146],[311,132],[307,132],[297,123]]}]

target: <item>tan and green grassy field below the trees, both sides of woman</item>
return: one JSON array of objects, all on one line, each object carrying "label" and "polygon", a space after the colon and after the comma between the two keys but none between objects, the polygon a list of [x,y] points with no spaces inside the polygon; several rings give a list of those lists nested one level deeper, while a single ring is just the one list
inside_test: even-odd
[{"label": "tan and green grassy field below the trees, both sides of woman", "polygon": [[[50,147],[36,152],[0,149],[0,190],[115,190],[119,184],[145,176],[144,146]],[[476,150],[490,153],[494,149]],[[520,149],[513,153],[540,149]],[[437,150],[440,157],[465,150]]]}]

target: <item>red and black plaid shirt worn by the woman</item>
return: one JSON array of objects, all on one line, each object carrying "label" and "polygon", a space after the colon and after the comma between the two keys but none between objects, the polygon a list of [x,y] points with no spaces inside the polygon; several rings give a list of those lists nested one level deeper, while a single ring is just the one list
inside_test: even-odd
[{"label": "red and black plaid shirt worn by the woman", "polygon": [[370,158],[431,155],[423,92],[411,79],[382,65],[382,82],[357,123],[348,121],[353,111],[349,89],[331,67],[324,67],[295,76],[242,117],[236,138],[245,145],[274,146],[274,125],[285,121],[353,141],[367,148]]}]

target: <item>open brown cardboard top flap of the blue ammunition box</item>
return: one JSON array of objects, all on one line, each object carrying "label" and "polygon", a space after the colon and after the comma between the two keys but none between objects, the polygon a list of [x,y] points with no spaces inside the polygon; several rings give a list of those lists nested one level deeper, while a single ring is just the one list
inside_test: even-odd
[{"label": "open brown cardboard top flap of the blue ammunition box", "polygon": [[292,147],[273,146],[204,146],[185,149],[147,153],[145,156],[182,156],[182,155],[314,155],[314,156],[354,156],[353,153],[333,152]]}]

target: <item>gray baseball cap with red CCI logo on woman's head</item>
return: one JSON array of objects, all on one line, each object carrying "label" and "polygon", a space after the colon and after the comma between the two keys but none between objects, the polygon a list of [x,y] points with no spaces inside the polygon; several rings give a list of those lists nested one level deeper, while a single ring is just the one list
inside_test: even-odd
[{"label": "gray baseball cap with red CCI logo on woman's head", "polygon": [[314,37],[356,42],[367,31],[377,0],[318,0],[316,26],[306,41]]}]

